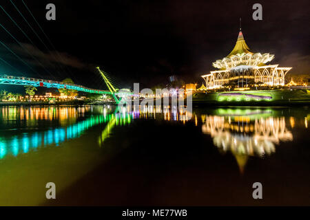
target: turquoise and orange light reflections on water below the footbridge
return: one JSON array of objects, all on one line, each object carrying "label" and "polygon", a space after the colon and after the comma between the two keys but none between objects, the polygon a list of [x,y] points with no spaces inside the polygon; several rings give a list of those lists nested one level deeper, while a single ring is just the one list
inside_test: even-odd
[{"label": "turquoise and orange light reflections on water below the footbridge", "polygon": [[[111,112],[110,106],[97,107],[102,114],[90,115],[83,121],[76,122],[79,117],[85,116],[85,113],[94,113],[91,106],[83,107],[3,107],[1,109],[1,126],[5,126],[6,135],[0,135],[0,159],[7,155],[17,156],[21,153],[35,151],[39,147],[55,145],[58,146],[65,140],[79,137],[84,131],[98,124],[106,124],[110,127],[110,122],[115,120],[116,125],[130,123],[130,118],[120,118]],[[128,115],[129,116],[129,115]],[[16,135],[7,133],[10,127],[25,120],[25,126],[29,129],[37,126],[37,129],[45,131],[23,132]],[[39,126],[39,121],[59,120],[59,126],[46,129],[46,126]],[[70,124],[66,126],[67,124]]]}]

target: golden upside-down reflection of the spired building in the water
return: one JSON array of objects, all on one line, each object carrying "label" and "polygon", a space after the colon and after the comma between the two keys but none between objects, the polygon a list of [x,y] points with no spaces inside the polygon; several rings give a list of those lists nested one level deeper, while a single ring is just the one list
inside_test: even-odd
[{"label": "golden upside-down reflection of the spired building in the water", "polygon": [[[220,151],[230,151],[236,157],[242,173],[249,156],[271,155],[275,144],[293,140],[285,117],[271,115],[271,110],[218,109],[216,115],[202,115],[202,130],[213,137]],[[290,122],[293,127],[292,119]]]}]

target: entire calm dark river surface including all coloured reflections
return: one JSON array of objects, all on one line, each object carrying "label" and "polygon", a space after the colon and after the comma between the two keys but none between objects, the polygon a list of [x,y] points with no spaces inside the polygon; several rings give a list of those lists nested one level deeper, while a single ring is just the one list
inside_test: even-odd
[{"label": "entire calm dark river surface including all coloured reflections", "polygon": [[309,206],[309,121],[307,107],[0,107],[0,205]]}]

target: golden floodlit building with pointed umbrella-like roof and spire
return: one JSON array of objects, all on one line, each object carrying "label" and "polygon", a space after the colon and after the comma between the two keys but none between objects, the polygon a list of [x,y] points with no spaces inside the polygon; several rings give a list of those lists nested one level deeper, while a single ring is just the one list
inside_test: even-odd
[{"label": "golden floodlit building with pointed umbrella-like roof and spire", "polygon": [[220,89],[232,85],[237,88],[249,88],[251,85],[284,86],[285,75],[291,67],[267,65],[273,58],[273,54],[251,52],[240,28],[234,49],[225,58],[212,63],[218,70],[202,76],[205,87]]}]

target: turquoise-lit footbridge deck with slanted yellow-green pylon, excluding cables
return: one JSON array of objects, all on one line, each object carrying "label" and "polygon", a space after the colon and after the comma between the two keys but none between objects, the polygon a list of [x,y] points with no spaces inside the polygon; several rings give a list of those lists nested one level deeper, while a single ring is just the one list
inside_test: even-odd
[{"label": "turquoise-lit footbridge deck with slanted yellow-green pylon, excluding cables", "polygon": [[82,85],[76,85],[72,83],[63,83],[60,81],[55,80],[44,80],[39,78],[28,78],[23,76],[7,76],[7,75],[0,75],[0,85],[6,84],[6,85],[31,85],[34,87],[47,87],[47,88],[56,88],[56,89],[74,89],[76,91],[84,91],[87,93],[92,94],[109,94],[112,95],[116,103],[121,101],[121,98],[124,96],[132,96],[132,92],[130,89],[116,89],[112,83],[110,83],[110,80],[107,79],[107,76],[105,72],[101,71],[99,67],[96,67],[96,69],[99,70],[99,73],[101,74],[103,80],[105,81],[105,84],[107,85],[107,88],[109,90],[101,90],[101,89],[91,89],[84,87]]}]

